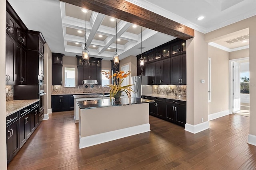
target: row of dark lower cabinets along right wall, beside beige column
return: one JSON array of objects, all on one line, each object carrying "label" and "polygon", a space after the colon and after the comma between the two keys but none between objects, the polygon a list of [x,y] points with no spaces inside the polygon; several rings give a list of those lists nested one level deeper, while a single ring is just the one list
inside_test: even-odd
[{"label": "row of dark lower cabinets along right wall, beside beige column", "polygon": [[150,115],[185,127],[186,101],[154,98],[151,96],[143,96],[143,98],[155,100],[154,103],[149,104]]}]

